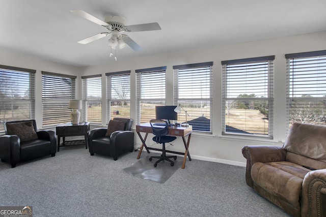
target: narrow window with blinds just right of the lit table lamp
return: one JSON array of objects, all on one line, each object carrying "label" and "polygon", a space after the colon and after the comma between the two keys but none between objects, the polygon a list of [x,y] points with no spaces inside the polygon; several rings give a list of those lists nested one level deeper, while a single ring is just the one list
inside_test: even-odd
[{"label": "narrow window with blinds just right of the lit table lamp", "polygon": [[102,124],[102,75],[82,76],[83,121]]}]

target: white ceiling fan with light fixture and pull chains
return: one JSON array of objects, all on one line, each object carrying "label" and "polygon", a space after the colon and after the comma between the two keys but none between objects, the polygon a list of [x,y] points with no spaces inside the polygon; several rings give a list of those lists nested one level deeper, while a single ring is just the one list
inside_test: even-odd
[{"label": "white ceiling fan with light fixture and pull chains", "polygon": [[89,38],[78,41],[78,43],[80,44],[88,44],[95,40],[110,36],[110,39],[108,39],[108,45],[110,45],[113,49],[116,49],[117,47],[119,47],[119,49],[122,49],[126,45],[128,45],[134,51],[139,51],[141,50],[141,47],[132,39],[130,39],[129,36],[121,33],[142,32],[161,29],[157,22],[144,23],[138,25],[125,25],[127,20],[124,17],[120,16],[108,15],[105,17],[105,20],[102,21],[82,10],[70,10],[70,12],[84,17],[85,19],[88,19],[98,25],[101,25],[107,30],[107,32],[99,33],[95,36],[91,36]]}]

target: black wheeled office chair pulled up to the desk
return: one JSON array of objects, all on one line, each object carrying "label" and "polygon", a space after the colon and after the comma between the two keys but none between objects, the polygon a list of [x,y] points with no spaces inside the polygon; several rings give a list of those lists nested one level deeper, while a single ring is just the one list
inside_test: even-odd
[{"label": "black wheeled office chair pulled up to the desk", "polygon": [[[158,161],[155,162],[154,167],[157,166],[157,163],[167,160],[171,162],[171,166],[174,165],[174,161],[170,160],[170,158],[174,158],[174,160],[177,160],[177,156],[166,156],[166,150],[165,150],[165,143],[166,142],[172,142],[174,141],[177,137],[175,136],[167,136],[169,133],[169,122],[166,120],[161,120],[161,119],[152,119],[149,121],[152,127],[153,134],[155,135],[153,137],[153,141],[156,143],[162,144],[162,154],[161,156],[151,156],[149,160],[151,161],[153,158],[157,158]],[[155,126],[155,123],[159,123],[159,125]],[[164,125],[162,126],[162,123]]]}]

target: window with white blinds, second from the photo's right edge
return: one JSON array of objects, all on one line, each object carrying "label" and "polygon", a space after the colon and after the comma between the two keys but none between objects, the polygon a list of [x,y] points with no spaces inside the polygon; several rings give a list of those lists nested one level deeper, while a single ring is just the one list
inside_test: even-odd
[{"label": "window with white blinds, second from the photo's right edge", "polygon": [[274,59],[222,61],[222,134],[273,138]]}]

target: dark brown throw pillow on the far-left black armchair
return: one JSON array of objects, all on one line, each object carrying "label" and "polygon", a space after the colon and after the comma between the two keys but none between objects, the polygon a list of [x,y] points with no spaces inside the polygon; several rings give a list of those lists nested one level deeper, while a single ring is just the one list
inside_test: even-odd
[{"label": "dark brown throw pillow on the far-left black armchair", "polygon": [[6,123],[8,135],[17,135],[21,142],[37,139],[33,121]]}]

